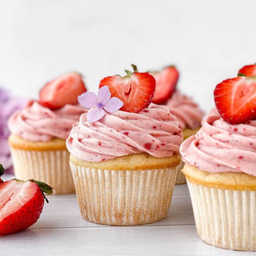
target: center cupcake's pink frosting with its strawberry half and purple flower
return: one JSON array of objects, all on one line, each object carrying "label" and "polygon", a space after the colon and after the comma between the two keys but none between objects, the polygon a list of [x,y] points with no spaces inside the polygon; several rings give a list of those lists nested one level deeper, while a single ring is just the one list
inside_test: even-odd
[{"label": "center cupcake's pink frosting with its strawberry half and purple flower", "polygon": [[[148,73],[101,80],[98,95],[84,93],[81,115],[67,138],[67,149],[88,162],[102,162],[129,154],[148,153],[162,158],[179,154],[182,130],[168,108],[150,104],[155,79]],[[112,96],[112,97],[111,97]],[[120,110],[119,110],[120,109]]]}]

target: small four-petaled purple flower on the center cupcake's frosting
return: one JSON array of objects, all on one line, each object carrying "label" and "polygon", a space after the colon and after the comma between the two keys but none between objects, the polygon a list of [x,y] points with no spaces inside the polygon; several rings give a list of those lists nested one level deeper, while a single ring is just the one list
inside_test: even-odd
[{"label": "small four-petaled purple flower on the center cupcake's frosting", "polygon": [[85,108],[91,108],[87,114],[87,121],[92,123],[100,120],[107,112],[115,112],[123,106],[117,97],[111,97],[108,86],[103,86],[98,91],[98,96],[92,92],[84,93],[78,97],[79,103]]}]

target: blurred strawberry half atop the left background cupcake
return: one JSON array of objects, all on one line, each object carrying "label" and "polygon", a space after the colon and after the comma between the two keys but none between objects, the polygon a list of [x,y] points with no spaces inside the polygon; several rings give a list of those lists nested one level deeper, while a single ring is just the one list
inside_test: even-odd
[{"label": "blurred strawberry half atop the left background cupcake", "polygon": [[77,97],[86,92],[82,77],[77,73],[62,75],[48,82],[39,93],[39,103],[50,109],[58,109],[66,104],[75,105]]}]

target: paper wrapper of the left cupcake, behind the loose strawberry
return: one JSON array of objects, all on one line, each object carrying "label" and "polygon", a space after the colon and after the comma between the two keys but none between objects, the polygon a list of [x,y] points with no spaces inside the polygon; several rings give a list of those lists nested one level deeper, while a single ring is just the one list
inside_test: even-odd
[{"label": "paper wrapper of the left cupcake, behind the loose strawberry", "polygon": [[55,195],[75,193],[67,150],[32,151],[12,148],[11,151],[17,179],[46,182],[54,188]]}]

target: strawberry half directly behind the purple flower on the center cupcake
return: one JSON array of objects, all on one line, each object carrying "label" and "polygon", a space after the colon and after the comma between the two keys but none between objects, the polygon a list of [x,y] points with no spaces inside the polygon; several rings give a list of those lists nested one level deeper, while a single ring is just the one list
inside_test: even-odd
[{"label": "strawberry half directly behind the purple flower on the center cupcake", "polygon": [[99,88],[107,85],[112,97],[123,101],[120,110],[138,113],[147,108],[155,93],[155,78],[148,73],[139,73],[132,65],[134,73],[126,70],[127,76],[108,76],[101,80]]}]

